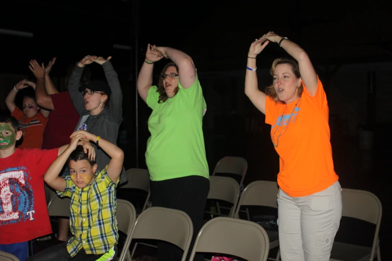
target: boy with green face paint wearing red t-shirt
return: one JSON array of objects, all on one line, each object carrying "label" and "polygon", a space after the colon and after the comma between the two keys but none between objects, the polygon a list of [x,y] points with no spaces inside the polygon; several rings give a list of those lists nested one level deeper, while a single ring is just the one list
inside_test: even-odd
[{"label": "boy with green face paint wearing red t-shirt", "polygon": [[[44,174],[67,145],[54,149],[20,149],[23,135],[13,116],[0,116],[0,250],[29,257],[28,242],[52,233],[45,198]],[[89,141],[79,141],[94,159]]]}]

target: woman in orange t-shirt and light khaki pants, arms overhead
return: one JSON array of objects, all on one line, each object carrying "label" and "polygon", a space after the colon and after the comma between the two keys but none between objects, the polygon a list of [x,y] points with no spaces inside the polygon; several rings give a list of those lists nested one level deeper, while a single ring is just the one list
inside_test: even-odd
[{"label": "woman in orange t-shirt and light khaki pants, arms overhead", "polygon": [[[256,56],[276,42],[292,58],[275,59],[272,85],[257,87]],[[250,45],[245,93],[265,114],[279,154],[278,226],[282,261],[329,260],[341,218],[324,89],[306,52],[286,37],[264,34]]]}]

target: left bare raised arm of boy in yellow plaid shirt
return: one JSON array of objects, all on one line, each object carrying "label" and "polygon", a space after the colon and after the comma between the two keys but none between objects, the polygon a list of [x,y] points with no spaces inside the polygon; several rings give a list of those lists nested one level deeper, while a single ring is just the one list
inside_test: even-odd
[{"label": "left bare raised arm of boy in yellow plaid shirt", "polygon": [[57,157],[52,164],[49,166],[48,170],[45,172],[44,180],[47,184],[57,191],[63,192],[66,188],[66,181],[64,177],[59,176],[64,164],[67,162],[68,157],[71,155],[72,151],[75,150],[78,142],[85,138],[85,135],[79,133],[71,138],[69,145],[64,145],[59,148],[59,157]]}]

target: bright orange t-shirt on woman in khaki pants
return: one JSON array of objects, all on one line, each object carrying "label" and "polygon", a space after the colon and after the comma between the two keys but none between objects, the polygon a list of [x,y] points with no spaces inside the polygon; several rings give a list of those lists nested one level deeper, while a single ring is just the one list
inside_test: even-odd
[{"label": "bright orange t-shirt on woman in khaki pants", "polygon": [[271,138],[284,111],[274,138],[276,144],[286,125],[275,148],[279,154],[278,185],[292,197],[324,190],[339,178],[333,169],[328,103],[318,76],[316,94],[310,96],[304,87],[293,111],[296,102],[275,103],[270,97],[265,100],[265,122],[272,126]]}]

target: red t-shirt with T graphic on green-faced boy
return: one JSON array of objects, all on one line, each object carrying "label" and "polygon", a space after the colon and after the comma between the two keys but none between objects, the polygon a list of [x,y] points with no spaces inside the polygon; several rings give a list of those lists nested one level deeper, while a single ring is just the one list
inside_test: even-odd
[{"label": "red t-shirt with T graphic on green-faced boy", "polygon": [[44,174],[59,149],[19,149],[0,158],[0,244],[52,233]]}]

